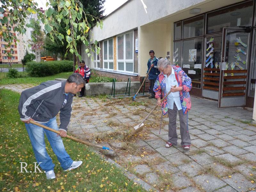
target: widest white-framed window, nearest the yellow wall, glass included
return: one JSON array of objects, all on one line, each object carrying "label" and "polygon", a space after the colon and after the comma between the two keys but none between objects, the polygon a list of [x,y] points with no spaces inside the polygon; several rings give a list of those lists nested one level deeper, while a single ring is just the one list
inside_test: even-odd
[{"label": "widest white-framed window, nearest the yellow wall, glass included", "polygon": [[133,32],[117,37],[117,70],[133,72]]}]

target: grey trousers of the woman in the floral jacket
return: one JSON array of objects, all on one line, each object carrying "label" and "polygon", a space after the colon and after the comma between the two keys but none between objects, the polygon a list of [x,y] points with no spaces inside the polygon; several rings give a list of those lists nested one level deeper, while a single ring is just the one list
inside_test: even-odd
[{"label": "grey trousers of the woman in the floral jacket", "polygon": [[[169,116],[169,139],[168,142],[172,143],[173,145],[177,145],[177,139],[178,135],[176,132],[176,119],[177,119],[177,111],[178,108],[175,105],[175,102],[173,103],[173,109],[168,109],[168,116]],[[190,135],[187,130],[188,126],[188,114],[184,115],[182,109],[179,110],[179,116],[180,116],[180,137],[181,137],[181,143],[180,145],[190,145]]]}]

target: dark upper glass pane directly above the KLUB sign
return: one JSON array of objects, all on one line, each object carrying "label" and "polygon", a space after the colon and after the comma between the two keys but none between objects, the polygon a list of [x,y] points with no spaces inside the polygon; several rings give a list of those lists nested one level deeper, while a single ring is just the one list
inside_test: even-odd
[{"label": "dark upper glass pane directly above the KLUB sign", "polygon": [[183,21],[183,39],[202,36],[204,15]]}]

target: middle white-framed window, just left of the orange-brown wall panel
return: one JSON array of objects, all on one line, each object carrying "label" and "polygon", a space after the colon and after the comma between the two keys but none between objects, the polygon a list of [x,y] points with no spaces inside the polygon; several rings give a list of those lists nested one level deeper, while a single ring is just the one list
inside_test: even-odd
[{"label": "middle white-framed window, just left of the orange-brown wall panel", "polygon": [[113,38],[103,41],[103,68],[114,70]]}]

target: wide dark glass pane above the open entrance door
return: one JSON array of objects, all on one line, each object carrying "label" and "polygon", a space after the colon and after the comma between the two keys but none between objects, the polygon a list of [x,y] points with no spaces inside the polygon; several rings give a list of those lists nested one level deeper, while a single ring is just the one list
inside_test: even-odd
[{"label": "wide dark glass pane above the open entrance door", "polygon": [[249,1],[207,14],[206,33],[222,32],[224,27],[251,26],[252,5],[253,1]]}]

